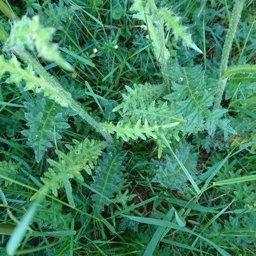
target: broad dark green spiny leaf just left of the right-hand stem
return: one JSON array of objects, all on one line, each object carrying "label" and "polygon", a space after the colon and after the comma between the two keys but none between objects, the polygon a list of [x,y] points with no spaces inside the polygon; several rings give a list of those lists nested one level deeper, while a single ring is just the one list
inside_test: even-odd
[{"label": "broad dark green spiny leaf just left of the right-hand stem", "polygon": [[231,134],[236,132],[230,127],[229,121],[223,118],[227,112],[222,107],[213,108],[217,81],[205,76],[201,66],[181,67],[178,63],[172,69],[173,93],[164,98],[173,100],[178,109],[177,115],[186,120],[186,130],[207,130],[213,134],[217,127]]}]

